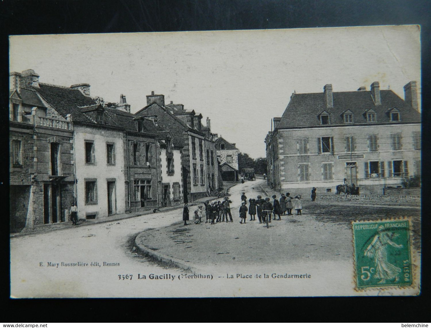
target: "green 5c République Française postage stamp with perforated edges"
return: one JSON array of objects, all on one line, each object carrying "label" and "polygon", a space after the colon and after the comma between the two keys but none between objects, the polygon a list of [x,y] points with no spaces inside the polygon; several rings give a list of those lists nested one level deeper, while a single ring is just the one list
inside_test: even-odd
[{"label": "green 5c R\u00e9publique Fran\u00e7aise postage stamp with perforated edges", "polygon": [[413,284],[408,219],[352,222],[356,288]]}]

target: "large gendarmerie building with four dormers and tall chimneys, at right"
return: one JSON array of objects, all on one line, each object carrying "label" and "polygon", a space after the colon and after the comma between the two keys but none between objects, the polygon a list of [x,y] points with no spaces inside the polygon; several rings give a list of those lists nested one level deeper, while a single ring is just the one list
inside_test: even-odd
[{"label": "large gendarmerie building with four dormers and tall chimneys, at right", "polygon": [[[421,114],[416,82],[401,99],[379,83],[353,92],[294,93],[265,138],[268,184],[275,189],[335,192],[343,184],[361,193],[402,186],[421,172]],[[345,180],[344,180],[345,179]]]}]

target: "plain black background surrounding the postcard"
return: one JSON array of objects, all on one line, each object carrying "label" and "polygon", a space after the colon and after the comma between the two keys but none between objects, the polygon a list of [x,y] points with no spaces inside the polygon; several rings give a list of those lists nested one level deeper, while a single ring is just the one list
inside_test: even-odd
[{"label": "plain black background surrounding the postcard", "polygon": [[[423,202],[429,187],[430,1],[178,0],[0,2],[0,192],[8,209],[8,35],[203,31],[419,24],[422,34]],[[109,47],[109,45],[107,45]],[[61,69],[61,68],[59,68]],[[418,297],[241,299],[10,300],[9,240],[4,211],[2,306],[7,322],[288,321],[423,322],[429,318],[429,210],[422,209],[422,294]],[[37,238],[37,237],[36,237]],[[270,250],[269,250],[270,251]],[[81,277],[84,279],[84,277]],[[337,279],[337,277],[334,277]],[[398,325],[397,325],[398,326]]]}]

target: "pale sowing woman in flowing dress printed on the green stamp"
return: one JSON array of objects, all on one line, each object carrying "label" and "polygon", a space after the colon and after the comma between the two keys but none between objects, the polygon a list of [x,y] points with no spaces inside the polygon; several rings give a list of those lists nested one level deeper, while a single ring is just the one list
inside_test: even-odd
[{"label": "pale sowing woman in flowing dress printed on the green stamp", "polygon": [[384,226],[377,228],[377,234],[373,241],[365,249],[364,255],[374,258],[376,273],[374,278],[381,279],[378,284],[384,284],[386,279],[395,279],[394,282],[400,280],[401,269],[387,261],[387,248],[403,248],[403,245],[395,244],[391,239],[394,234],[384,231]]}]

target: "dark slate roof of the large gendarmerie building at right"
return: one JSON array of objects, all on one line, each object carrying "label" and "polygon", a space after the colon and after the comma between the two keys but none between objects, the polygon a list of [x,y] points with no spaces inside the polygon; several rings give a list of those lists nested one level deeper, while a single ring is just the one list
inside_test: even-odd
[{"label": "dark slate roof of the large gendarmerie building at right", "polygon": [[367,123],[364,115],[369,109],[376,112],[375,124],[389,123],[388,110],[394,107],[400,111],[401,122],[421,121],[421,114],[392,90],[380,90],[381,105],[374,104],[370,91],[334,92],[332,95],[334,107],[327,108],[323,93],[294,93],[276,129],[321,126],[318,115],[324,110],[330,114],[329,125],[344,124],[342,114],[347,109],[353,113],[353,124],[372,124]]}]

